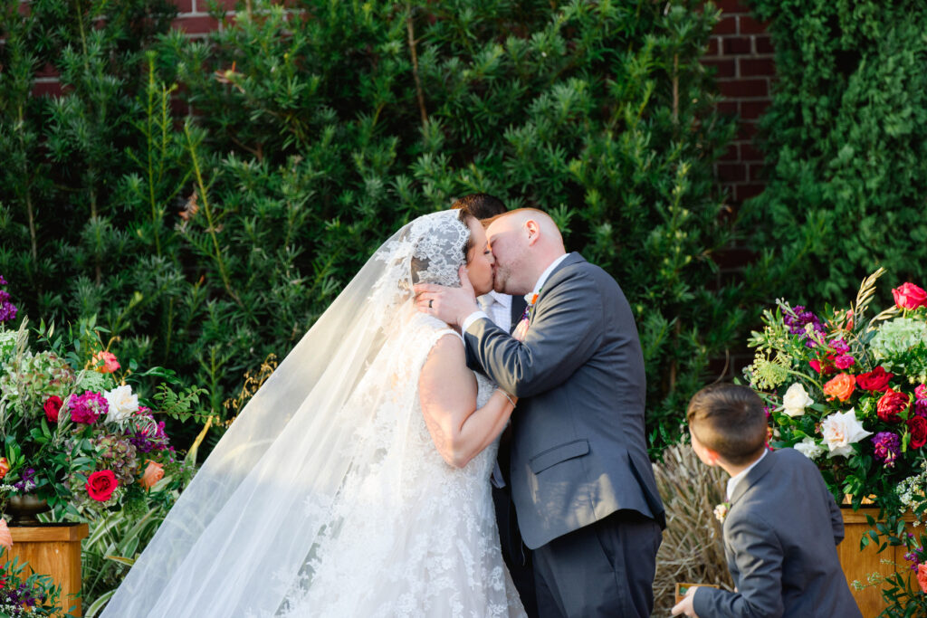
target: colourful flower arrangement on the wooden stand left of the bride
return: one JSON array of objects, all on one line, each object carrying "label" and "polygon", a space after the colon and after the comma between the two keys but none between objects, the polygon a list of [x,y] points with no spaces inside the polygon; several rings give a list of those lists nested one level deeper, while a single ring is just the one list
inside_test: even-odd
[{"label": "colourful flower arrangement on the wooden stand left of the bride", "polygon": [[[146,405],[133,389],[155,368],[123,367],[94,319],[66,334],[28,321],[0,324],[0,506],[17,495],[47,501],[53,519],[94,520],[103,511],[144,513],[170,503],[192,474],[177,457],[159,413],[185,420],[200,389],[178,396],[164,383]],[[150,407],[149,407],[150,406]]]}]

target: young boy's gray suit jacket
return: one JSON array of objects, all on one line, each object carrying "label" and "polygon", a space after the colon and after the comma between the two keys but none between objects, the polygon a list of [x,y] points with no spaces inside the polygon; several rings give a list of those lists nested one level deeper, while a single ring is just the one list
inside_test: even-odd
[{"label": "young boy's gray suit jacket", "polygon": [[767,453],[747,473],[723,527],[738,592],[698,588],[692,604],[700,618],[861,618],[837,558],[840,509],[798,451]]}]

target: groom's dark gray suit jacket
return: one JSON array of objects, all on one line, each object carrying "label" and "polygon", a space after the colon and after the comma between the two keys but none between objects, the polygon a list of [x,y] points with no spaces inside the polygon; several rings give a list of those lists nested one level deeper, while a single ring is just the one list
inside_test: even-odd
[{"label": "groom's dark gray suit jacket", "polygon": [[510,478],[528,548],[624,509],[666,526],[644,437],[641,343],[611,275],[572,253],[541,289],[524,342],[485,319],[464,340],[471,366],[520,397]]}]

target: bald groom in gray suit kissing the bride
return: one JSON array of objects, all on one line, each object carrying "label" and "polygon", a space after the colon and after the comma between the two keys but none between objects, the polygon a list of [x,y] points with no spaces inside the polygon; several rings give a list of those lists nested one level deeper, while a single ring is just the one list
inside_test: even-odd
[{"label": "bald groom in gray suit kissing the bride", "polygon": [[416,285],[417,306],[460,326],[468,358],[520,397],[509,472],[540,615],[649,616],[666,520],[628,300],[605,271],[565,253],[540,210],[502,214],[487,236],[495,289],[529,295],[523,340],[479,310],[465,276],[461,288]]}]

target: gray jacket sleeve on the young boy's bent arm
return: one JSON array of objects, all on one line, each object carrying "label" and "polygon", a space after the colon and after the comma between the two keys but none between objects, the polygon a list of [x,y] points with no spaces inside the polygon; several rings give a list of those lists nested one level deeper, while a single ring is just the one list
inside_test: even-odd
[{"label": "gray jacket sleeve on the young boy's bent arm", "polygon": [[701,587],[692,605],[703,617],[776,618],[782,604],[782,548],[767,523],[756,517],[730,521],[726,531],[740,574],[738,591]]}]

